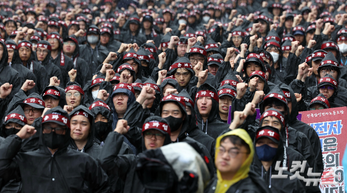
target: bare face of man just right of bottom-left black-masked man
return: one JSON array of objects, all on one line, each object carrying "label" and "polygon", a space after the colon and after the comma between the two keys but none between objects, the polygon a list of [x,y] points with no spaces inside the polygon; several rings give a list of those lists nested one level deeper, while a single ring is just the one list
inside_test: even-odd
[{"label": "bare face of man just right of bottom-left black-masked man", "polygon": [[86,141],[90,133],[90,123],[86,116],[73,116],[70,120],[70,136],[75,141]]}]

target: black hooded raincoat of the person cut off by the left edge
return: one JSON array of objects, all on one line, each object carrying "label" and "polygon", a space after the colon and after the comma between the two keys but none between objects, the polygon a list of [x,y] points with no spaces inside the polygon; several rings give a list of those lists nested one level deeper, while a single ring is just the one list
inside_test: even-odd
[{"label": "black hooded raincoat of the person cut off by the left edge", "polygon": [[8,64],[8,53],[6,44],[0,41],[1,46],[3,47],[2,58],[0,59],[0,83],[12,84],[12,91],[9,96],[7,96],[10,100],[12,97],[19,91],[21,88],[21,77],[20,74],[13,68],[11,68]]}]

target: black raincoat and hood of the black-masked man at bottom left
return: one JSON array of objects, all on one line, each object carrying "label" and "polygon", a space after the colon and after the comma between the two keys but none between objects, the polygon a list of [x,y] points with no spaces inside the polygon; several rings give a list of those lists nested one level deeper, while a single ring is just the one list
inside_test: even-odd
[{"label": "black raincoat and hood of the black-masked man at bottom left", "polygon": [[[48,110],[45,116],[52,116],[52,113],[65,116],[69,120],[69,116],[61,107]],[[37,120],[42,120],[42,118]],[[64,145],[54,154],[51,154],[43,142],[41,121],[39,125],[35,126],[35,129],[37,135],[40,136],[40,148],[36,151],[19,152],[22,139],[18,135],[11,135],[1,143],[0,156],[3,161],[0,164],[2,171],[0,177],[4,177],[6,172],[11,172],[12,168],[19,168],[22,176],[36,176],[22,178],[23,192],[44,192],[46,190],[79,192],[83,190],[84,182],[92,191],[103,193],[108,191],[108,176],[98,162],[88,154],[81,154],[67,148],[70,140],[69,128],[66,130]]]}]

